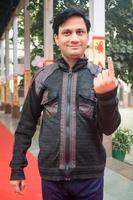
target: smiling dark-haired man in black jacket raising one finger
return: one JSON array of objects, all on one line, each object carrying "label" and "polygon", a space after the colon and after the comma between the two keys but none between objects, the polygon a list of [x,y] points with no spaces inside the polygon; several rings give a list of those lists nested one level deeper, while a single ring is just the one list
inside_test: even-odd
[{"label": "smiling dark-haired man in black jacket raising one finger", "polygon": [[120,124],[112,59],[103,71],[88,62],[90,22],[78,9],[61,12],[53,30],[61,58],[33,78],[15,132],[11,185],[23,192],[25,154],[43,111],[38,157],[43,199],[102,200],[102,138]]}]

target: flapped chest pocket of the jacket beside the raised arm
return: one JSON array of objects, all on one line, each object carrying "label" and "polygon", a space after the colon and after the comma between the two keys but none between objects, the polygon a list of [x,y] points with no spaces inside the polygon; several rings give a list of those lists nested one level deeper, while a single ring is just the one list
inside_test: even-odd
[{"label": "flapped chest pocket of the jacket beside the raised arm", "polygon": [[96,98],[93,90],[81,90],[78,93],[79,113],[89,119],[96,114]]}]

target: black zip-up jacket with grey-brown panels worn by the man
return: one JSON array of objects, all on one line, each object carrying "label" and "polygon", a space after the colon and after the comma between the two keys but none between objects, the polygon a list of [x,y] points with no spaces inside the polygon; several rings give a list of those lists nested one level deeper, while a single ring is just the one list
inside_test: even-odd
[{"label": "black zip-up jacket with grey-brown panels worn by the man", "polygon": [[115,131],[120,114],[117,88],[102,95],[94,93],[93,79],[99,70],[83,58],[69,72],[61,58],[37,72],[15,132],[11,180],[25,178],[26,151],[42,111],[38,156],[41,177],[58,181],[103,176],[103,133]]}]

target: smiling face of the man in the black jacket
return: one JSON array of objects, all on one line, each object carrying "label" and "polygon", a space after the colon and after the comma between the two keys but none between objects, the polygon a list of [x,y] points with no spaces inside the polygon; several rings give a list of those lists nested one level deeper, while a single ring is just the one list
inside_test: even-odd
[{"label": "smiling face of the man in the black jacket", "polygon": [[59,26],[58,35],[55,35],[55,42],[59,46],[62,56],[69,61],[84,56],[88,38],[83,18],[72,16]]}]

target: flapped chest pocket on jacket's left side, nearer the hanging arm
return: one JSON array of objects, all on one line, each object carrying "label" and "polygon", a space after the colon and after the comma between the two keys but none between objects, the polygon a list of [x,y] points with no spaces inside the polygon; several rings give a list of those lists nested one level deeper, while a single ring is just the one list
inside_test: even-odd
[{"label": "flapped chest pocket on jacket's left side, nearer the hanging arm", "polygon": [[44,114],[53,117],[58,111],[58,90],[46,90],[43,93],[41,105],[44,107]]}]

